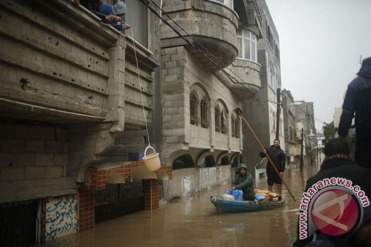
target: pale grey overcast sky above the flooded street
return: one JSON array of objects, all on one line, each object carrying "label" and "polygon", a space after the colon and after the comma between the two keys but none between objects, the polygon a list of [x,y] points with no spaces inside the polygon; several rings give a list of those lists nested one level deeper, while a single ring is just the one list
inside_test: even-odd
[{"label": "pale grey overcast sky above the flooded street", "polygon": [[[327,123],[371,56],[371,0],[266,0],[279,35],[282,89]],[[322,124],[316,121],[317,131]]]}]

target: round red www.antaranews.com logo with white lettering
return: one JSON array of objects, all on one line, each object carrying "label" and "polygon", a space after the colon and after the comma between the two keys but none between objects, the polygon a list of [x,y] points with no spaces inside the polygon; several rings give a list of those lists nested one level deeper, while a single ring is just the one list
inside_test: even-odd
[{"label": "round red www.antaranews.com logo with white lettering", "polygon": [[369,205],[365,192],[351,180],[324,178],[303,193],[299,239],[312,236],[317,229],[329,236],[355,231],[361,224],[363,208]]}]

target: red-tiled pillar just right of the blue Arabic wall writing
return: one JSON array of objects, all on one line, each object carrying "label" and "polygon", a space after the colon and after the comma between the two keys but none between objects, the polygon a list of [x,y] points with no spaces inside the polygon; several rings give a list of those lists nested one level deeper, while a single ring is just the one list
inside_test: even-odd
[{"label": "red-tiled pillar just right of the blue Arabic wall writing", "polygon": [[94,227],[94,191],[79,192],[79,231]]}]

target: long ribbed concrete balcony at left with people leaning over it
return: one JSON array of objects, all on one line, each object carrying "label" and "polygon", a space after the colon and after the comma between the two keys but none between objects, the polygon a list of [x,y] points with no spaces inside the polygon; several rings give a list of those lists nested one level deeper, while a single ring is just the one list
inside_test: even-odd
[{"label": "long ribbed concrete balcony at left with people leaning over it", "polygon": [[[70,1],[1,1],[0,116],[58,124],[150,121],[151,52]],[[125,120],[125,122],[124,122]]]}]

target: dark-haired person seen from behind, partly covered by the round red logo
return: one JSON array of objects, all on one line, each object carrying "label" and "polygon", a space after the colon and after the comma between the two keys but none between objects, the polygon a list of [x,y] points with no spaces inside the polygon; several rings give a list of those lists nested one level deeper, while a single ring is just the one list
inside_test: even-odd
[{"label": "dark-haired person seen from behind, partly covered by the round red logo", "polygon": [[[354,163],[350,158],[349,146],[345,139],[333,138],[326,143],[324,147],[325,159],[321,165],[320,170],[313,177],[309,178],[306,183],[304,192],[307,192],[314,184],[323,181],[326,178],[346,178],[352,181],[352,186],[358,185],[361,190],[365,192],[368,198],[371,198],[371,169],[368,166]],[[337,186],[341,187],[341,186]],[[324,187],[326,188],[326,187]],[[334,187],[335,188],[335,187]],[[314,194],[322,193],[322,189]],[[339,204],[340,206],[340,204]],[[332,209],[332,208],[331,208]],[[341,208],[339,207],[339,210]],[[343,208],[344,210],[344,208]],[[311,210],[308,210],[311,214]],[[300,214],[299,214],[300,215]],[[342,216],[341,216],[342,217]],[[371,246],[371,205],[363,207],[363,217],[360,219],[361,224],[359,228],[355,228],[348,233],[340,236],[329,236],[322,233],[320,230],[312,236],[300,240],[299,239],[299,221],[295,247],[364,247]],[[340,218],[338,219],[340,220]]]}]

